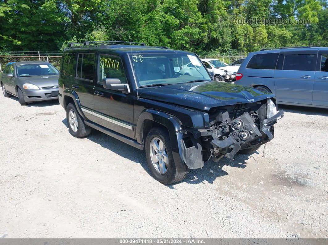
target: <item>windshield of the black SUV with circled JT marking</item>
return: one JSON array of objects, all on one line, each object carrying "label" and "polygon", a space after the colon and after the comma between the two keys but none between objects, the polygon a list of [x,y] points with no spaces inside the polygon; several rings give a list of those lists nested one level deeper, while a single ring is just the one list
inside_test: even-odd
[{"label": "windshield of the black SUV with circled JT marking", "polygon": [[132,54],[132,59],[139,86],[212,80],[192,54]]}]

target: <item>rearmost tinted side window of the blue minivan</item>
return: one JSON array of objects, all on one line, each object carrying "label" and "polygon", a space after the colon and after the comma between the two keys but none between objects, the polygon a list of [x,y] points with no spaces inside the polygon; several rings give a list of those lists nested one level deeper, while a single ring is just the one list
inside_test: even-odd
[{"label": "rearmost tinted side window of the blue minivan", "polygon": [[274,70],[279,53],[256,54],[248,62],[248,69],[269,69]]}]

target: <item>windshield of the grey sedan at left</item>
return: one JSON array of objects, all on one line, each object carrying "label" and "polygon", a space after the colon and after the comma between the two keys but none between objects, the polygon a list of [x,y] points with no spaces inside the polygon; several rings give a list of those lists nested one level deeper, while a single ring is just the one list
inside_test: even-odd
[{"label": "windshield of the grey sedan at left", "polygon": [[49,63],[16,65],[18,77],[57,75],[58,70]]}]

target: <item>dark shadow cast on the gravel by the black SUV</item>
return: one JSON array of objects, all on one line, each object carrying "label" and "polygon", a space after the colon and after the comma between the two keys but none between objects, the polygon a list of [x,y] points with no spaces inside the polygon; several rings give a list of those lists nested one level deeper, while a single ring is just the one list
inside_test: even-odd
[{"label": "dark shadow cast on the gravel by the black SUV", "polygon": [[[68,128],[67,119],[63,119],[62,122]],[[125,144],[97,130],[92,130],[91,134],[86,138],[96,144],[101,145],[104,148],[113,151],[121,157],[129,159],[130,161],[133,161],[136,164],[140,164],[145,169],[145,171],[152,176],[149,166],[147,164],[146,154],[144,150],[138,150],[133,146]],[[236,154],[236,159],[234,160],[223,157],[218,163],[209,160],[204,163],[204,166],[201,169],[190,169],[190,172],[187,174],[186,178],[183,181],[166,186],[170,189],[176,189],[174,185],[179,183],[203,184],[202,182],[207,181],[208,183],[213,184],[216,178],[228,175],[228,173],[222,169],[223,166],[227,165],[231,167],[245,168],[247,164],[245,161],[248,160],[249,156],[252,154],[260,153],[255,152],[246,155]],[[213,171],[213,173],[211,170]]]}]

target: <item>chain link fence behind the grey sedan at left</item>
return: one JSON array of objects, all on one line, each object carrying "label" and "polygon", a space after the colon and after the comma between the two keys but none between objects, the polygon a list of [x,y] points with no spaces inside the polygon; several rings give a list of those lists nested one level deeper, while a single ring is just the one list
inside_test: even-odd
[{"label": "chain link fence behind the grey sedan at left", "polygon": [[19,61],[46,61],[59,70],[61,55],[62,52],[0,52],[0,72],[8,63]]}]

